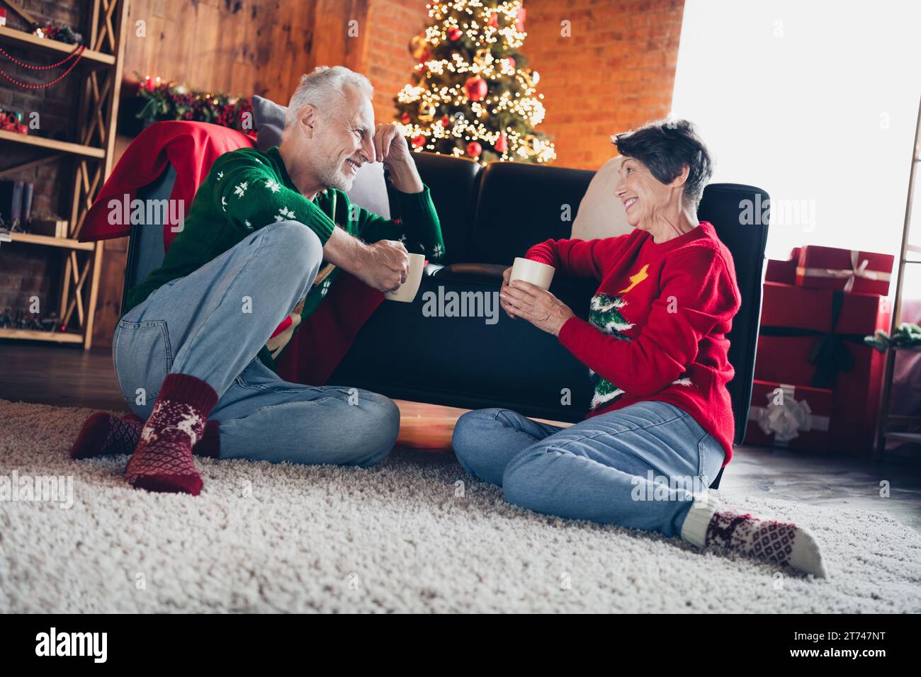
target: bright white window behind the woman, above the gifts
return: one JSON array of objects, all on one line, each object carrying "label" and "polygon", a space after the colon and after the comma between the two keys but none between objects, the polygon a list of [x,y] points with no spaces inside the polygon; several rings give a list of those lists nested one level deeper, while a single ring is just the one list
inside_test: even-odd
[{"label": "bright white window behind the woman, above the gifts", "polygon": [[770,193],[769,257],[799,244],[898,256],[919,28],[914,1],[685,0],[672,111],[697,123],[713,181]]}]

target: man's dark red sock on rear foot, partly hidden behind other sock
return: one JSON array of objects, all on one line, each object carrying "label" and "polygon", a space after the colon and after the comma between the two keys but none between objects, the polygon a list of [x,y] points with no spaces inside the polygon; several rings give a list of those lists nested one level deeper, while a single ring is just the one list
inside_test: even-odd
[{"label": "man's dark red sock on rear foot, partly hidden behind other sock", "polygon": [[[144,419],[134,414],[124,414],[121,418],[105,412],[91,414],[70,449],[70,458],[132,454],[143,427]],[[192,455],[216,459],[219,450],[217,421],[208,421],[204,424],[202,438],[192,447]]]}]

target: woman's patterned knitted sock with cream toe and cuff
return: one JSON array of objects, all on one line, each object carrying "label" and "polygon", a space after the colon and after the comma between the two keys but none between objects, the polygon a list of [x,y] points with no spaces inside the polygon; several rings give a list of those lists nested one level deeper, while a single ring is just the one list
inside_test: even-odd
[{"label": "woman's patterned knitted sock with cream toe and cuff", "polygon": [[713,496],[697,501],[682,525],[685,541],[702,548],[736,550],[818,578],[828,577],[822,550],[810,531],[789,522],[720,510]]}]

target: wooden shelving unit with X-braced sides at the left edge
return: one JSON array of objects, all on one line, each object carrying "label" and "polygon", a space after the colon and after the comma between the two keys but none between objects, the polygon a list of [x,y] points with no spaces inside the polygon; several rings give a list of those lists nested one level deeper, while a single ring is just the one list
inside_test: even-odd
[{"label": "wooden shelving unit with X-braced sides at the left edge", "polygon": [[[0,328],[0,338],[52,341],[55,343],[92,344],[93,320],[99,295],[102,242],[79,242],[87,211],[114,163],[115,126],[118,122],[119,93],[122,86],[122,61],[127,29],[129,0],[91,0],[89,6],[87,49],[72,77],[80,77],[80,100],[76,107],[76,140],[57,141],[31,134],[0,131],[0,154],[4,146],[28,146],[38,156],[27,162],[0,170],[0,177],[48,162],[72,161],[76,178],[70,187],[62,187],[70,200],[68,237],[11,233],[3,247],[51,247],[61,257],[61,285],[58,295],[59,315],[68,326],[76,313],[79,332],[41,332]],[[22,14],[21,12],[19,12]],[[23,30],[0,27],[0,44],[15,47],[19,53],[72,53],[76,45],[39,38]],[[0,257],[3,256],[0,250]]]}]

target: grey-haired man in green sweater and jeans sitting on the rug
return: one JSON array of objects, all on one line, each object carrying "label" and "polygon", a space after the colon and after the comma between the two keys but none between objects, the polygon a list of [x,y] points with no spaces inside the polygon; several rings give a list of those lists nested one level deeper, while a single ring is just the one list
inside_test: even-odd
[{"label": "grey-haired man in green sweater and jeans sitting on the rug", "polygon": [[[72,456],[133,450],[129,484],[197,495],[193,453],[367,467],[392,449],[400,413],[388,398],[274,371],[340,269],[390,291],[406,280],[403,240],[433,260],[444,251],[406,141],[394,123],[375,126],[372,94],[365,76],[319,67],[291,97],[280,146],[216,159],[163,265],[132,289],[115,330],[116,375],[138,418],[94,414]],[[377,161],[397,191],[399,223],[344,193],[357,169]]]}]

